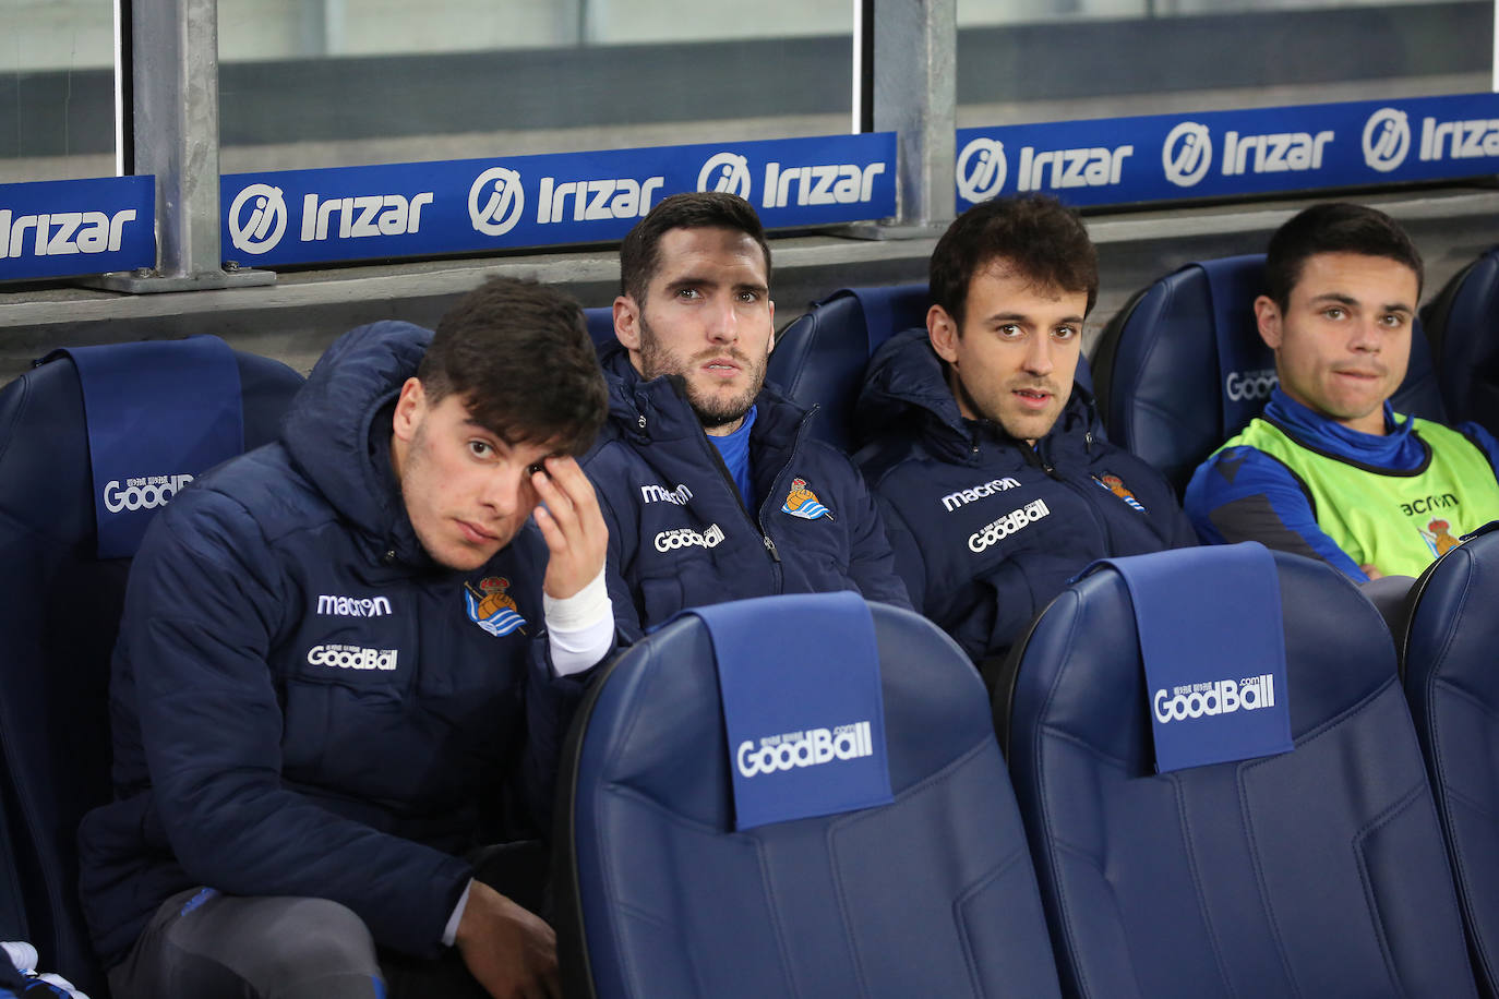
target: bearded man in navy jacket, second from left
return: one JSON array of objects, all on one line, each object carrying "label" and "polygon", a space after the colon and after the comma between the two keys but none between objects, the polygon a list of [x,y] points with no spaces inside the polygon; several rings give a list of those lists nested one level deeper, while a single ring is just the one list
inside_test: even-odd
[{"label": "bearded man in navy jacket, second from left", "polygon": [[625,638],[687,607],[854,590],[910,607],[857,470],[764,386],[770,249],[750,202],[673,195],[625,237],[609,422],[583,460]]}]

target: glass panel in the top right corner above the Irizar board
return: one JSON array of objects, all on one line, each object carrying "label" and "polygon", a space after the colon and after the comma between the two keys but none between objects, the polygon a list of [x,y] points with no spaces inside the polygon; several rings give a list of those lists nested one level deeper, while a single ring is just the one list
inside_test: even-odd
[{"label": "glass panel in the top right corner above the Irizar board", "polygon": [[1492,0],[958,0],[958,124],[1490,88]]}]

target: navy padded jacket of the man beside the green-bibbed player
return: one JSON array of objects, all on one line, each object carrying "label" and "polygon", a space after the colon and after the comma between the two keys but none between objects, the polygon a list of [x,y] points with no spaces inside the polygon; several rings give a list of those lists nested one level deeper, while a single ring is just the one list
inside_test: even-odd
[{"label": "navy padded jacket of the man beside the green-bibbed player", "polygon": [[1004,655],[1094,559],[1196,544],[1160,473],[1103,437],[1085,389],[1031,449],[959,413],[925,328],[875,352],[854,418],[911,602],[974,662]]}]

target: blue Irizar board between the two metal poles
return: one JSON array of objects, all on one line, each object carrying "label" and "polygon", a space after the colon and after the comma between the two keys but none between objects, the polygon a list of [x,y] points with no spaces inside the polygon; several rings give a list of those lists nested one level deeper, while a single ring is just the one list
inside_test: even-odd
[{"label": "blue Irizar board between the two metal poles", "polygon": [[766,228],[895,214],[895,133],[234,174],[223,256],[313,264],[619,240],[684,190],[747,198]]}]

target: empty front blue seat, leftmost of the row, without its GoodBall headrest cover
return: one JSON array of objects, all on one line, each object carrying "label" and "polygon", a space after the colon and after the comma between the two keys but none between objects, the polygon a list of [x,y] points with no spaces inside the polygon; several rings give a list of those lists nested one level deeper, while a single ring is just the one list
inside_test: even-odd
[{"label": "empty front blue seat, leftmost of the row, without its GoodBall headrest cover", "polygon": [[[784,617],[766,607],[808,599],[744,605],[775,631]],[[1058,995],[979,677],[925,619],[869,611],[892,804],[735,831],[715,650],[696,616],[595,681],[558,794],[567,995]]]}]

